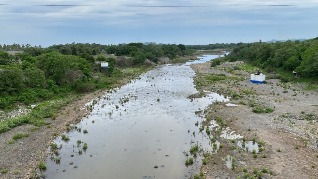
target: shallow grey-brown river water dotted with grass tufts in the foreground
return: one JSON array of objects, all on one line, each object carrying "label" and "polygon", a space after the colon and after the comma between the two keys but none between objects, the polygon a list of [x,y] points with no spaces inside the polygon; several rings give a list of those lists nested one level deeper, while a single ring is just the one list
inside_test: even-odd
[{"label": "shallow grey-brown river water dotted with grass tufts in the foreground", "polygon": [[[195,111],[215,100],[228,101],[216,93],[188,99],[197,92],[193,75],[186,64],[164,65],[102,97],[92,114],[77,124],[81,132],[72,129],[66,133],[69,141],[55,141],[62,145],[61,161],[52,160],[55,154],[47,158],[46,178],[191,178],[199,172],[202,156],[185,166],[183,151],[190,154],[197,143],[213,151],[205,131],[195,126],[203,120]],[[77,140],[82,141],[79,146]],[[83,142],[88,148],[79,154]]]}]

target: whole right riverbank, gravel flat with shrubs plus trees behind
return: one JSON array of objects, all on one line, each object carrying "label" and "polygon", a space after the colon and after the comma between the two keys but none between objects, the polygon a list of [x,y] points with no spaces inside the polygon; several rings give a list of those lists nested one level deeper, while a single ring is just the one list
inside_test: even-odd
[{"label": "whole right riverbank, gravel flat with shrubs plus trees behind", "polygon": [[[317,42],[318,38],[304,42],[241,44],[225,57],[191,65],[197,74],[193,77],[197,90],[218,92],[237,104],[229,107],[225,105],[228,102],[215,102],[197,113],[205,118],[200,128],[209,129],[213,135],[211,142],[223,144],[217,154],[203,151],[207,163],[201,167],[204,178],[315,178],[318,68],[309,69],[312,65],[307,63],[318,63]],[[288,57],[290,52],[295,52],[299,60],[293,67],[289,66],[293,60]],[[249,75],[257,68],[265,69],[265,84],[249,82]],[[294,79],[293,70],[299,71],[302,77]],[[211,121],[219,127],[214,128]],[[219,134],[222,131],[243,137],[225,139]],[[236,143],[242,145],[237,147]],[[256,149],[252,148],[255,146]],[[226,166],[226,156],[231,156],[229,166]],[[295,156],[297,161],[289,162],[289,168],[300,170],[292,174],[284,170],[290,156]]]}]

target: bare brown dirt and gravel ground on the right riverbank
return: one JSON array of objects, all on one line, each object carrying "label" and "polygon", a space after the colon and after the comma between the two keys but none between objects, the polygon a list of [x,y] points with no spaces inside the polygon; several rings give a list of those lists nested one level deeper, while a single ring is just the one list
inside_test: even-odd
[{"label": "bare brown dirt and gravel ground on the right riverbank", "polygon": [[[210,62],[193,64],[191,68],[196,71],[196,78],[201,79],[207,75],[218,75],[219,73],[229,77],[248,78],[249,73],[245,71],[234,70],[229,73],[227,70],[238,63],[221,64],[226,67],[224,70],[220,66],[211,68]],[[246,141],[252,141],[255,138],[256,141],[261,140],[266,143],[265,150],[260,152],[257,158],[253,158],[252,152],[239,149],[236,145],[239,139],[232,143],[231,140],[222,139],[218,134],[213,134],[224,147],[218,151],[218,154],[214,154],[211,159],[208,159],[207,165],[202,166],[201,169],[205,172],[204,175],[207,179],[244,178],[243,176],[246,174],[243,172],[244,167],[247,168],[250,176],[255,177],[257,174],[253,173],[254,168],[258,171],[267,168],[267,173],[262,173],[265,178],[318,178],[318,135],[316,132],[318,107],[313,106],[318,104],[317,91],[302,90],[301,85],[297,84],[287,84],[290,87],[286,89],[281,87],[282,84],[277,79],[267,80],[267,82],[267,84],[255,84],[249,82],[248,79],[235,83],[222,80],[202,87],[202,89],[222,92],[228,96],[231,96],[232,92],[243,95],[237,100],[231,99],[226,103],[214,104],[209,108],[212,112],[206,117],[211,119],[221,117],[231,129],[230,132],[234,130],[235,134],[244,135]],[[254,92],[251,95],[245,95],[244,90]],[[275,111],[265,114],[254,113],[252,112],[253,107],[248,105],[249,100],[253,100],[255,105],[267,106]],[[238,106],[226,106],[227,103]],[[305,113],[302,114],[301,111]],[[308,120],[308,116],[311,120]],[[307,146],[305,146],[305,141],[308,141]],[[236,146],[236,149],[231,150],[231,146]],[[296,146],[299,146],[298,149]],[[266,158],[262,157],[263,154],[266,154]],[[233,161],[235,168],[229,169],[225,166],[223,160],[227,155],[235,158]],[[213,160],[216,161],[216,164],[212,162]],[[313,165],[315,165],[314,168]],[[273,171],[272,175],[269,174],[269,170]]]}]

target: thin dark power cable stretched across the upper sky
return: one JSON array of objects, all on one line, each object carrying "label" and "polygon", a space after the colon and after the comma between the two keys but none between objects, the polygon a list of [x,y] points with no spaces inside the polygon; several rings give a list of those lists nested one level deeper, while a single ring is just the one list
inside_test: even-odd
[{"label": "thin dark power cable stretched across the upper sky", "polygon": [[62,4],[0,4],[2,6],[71,6],[71,7],[268,7],[268,6],[317,6],[318,4],[281,4],[281,5],[62,5]]}]

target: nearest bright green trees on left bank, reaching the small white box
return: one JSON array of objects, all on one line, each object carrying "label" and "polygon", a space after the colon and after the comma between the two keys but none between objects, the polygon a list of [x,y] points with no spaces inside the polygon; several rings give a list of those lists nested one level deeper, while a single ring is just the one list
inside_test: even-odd
[{"label": "nearest bright green trees on left bank, reaching the small white box", "polygon": [[[7,52],[0,52],[0,108],[15,102],[31,104],[69,93],[106,88],[114,82],[113,70],[105,74],[106,78],[93,78],[100,64],[80,56],[58,52],[33,56],[24,52],[19,54],[22,63],[11,63],[12,58]],[[110,69],[114,68],[114,58],[105,61],[110,62]]]}]

